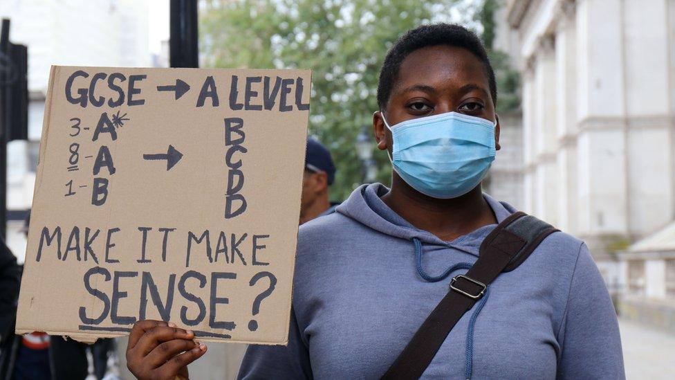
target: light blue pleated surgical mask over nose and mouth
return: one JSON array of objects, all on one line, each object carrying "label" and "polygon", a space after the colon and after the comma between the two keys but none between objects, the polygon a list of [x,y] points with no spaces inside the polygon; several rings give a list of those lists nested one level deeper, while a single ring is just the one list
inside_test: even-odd
[{"label": "light blue pleated surgical mask over nose and mouth", "polygon": [[[456,198],[478,186],[494,161],[494,127],[484,118],[447,112],[405,120],[391,131],[394,170],[418,192]],[[387,152],[388,153],[388,152]]]}]

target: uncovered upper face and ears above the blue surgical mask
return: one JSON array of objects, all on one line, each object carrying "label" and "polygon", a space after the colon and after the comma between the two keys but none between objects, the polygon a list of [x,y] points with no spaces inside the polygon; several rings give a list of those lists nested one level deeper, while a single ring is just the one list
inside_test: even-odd
[{"label": "uncovered upper face and ears above the blue surgical mask", "polygon": [[[464,48],[447,45],[420,48],[403,60],[382,111],[391,127],[450,111],[499,122],[483,62]],[[391,152],[391,132],[379,111],[373,115],[373,129],[378,148]],[[494,138],[499,150],[499,123]]]}]

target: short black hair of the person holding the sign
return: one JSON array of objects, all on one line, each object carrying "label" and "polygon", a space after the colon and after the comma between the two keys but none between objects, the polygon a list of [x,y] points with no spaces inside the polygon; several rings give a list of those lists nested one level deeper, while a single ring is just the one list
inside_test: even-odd
[{"label": "short black hair of the person holding the sign", "polygon": [[438,45],[465,48],[483,62],[486,67],[486,75],[488,75],[490,96],[492,96],[492,102],[497,105],[497,81],[494,79],[494,71],[481,39],[476,33],[463,26],[443,23],[423,25],[408,30],[405,35],[396,41],[394,46],[391,46],[385,57],[385,62],[382,64],[382,69],[380,69],[380,80],[378,81],[378,106],[380,110],[384,110],[389,101],[391,89],[394,87],[400,65],[405,57],[420,48]]}]

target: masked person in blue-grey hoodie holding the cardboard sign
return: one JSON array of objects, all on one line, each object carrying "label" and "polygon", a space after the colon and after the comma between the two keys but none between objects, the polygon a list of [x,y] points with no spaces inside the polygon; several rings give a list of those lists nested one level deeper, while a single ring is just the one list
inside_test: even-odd
[{"label": "masked person in blue-grey hoodie holding the cardboard sign", "polygon": [[[300,228],[288,346],[250,346],[239,377],[378,379],[387,371],[447,293],[439,273],[475,262],[483,239],[515,212],[481,192],[499,150],[496,99],[486,51],[465,28],[421,26],[396,42],[373,115],[378,148],[394,166],[391,189],[361,186],[335,213]],[[483,299],[423,378],[625,377],[616,314],[580,240],[549,235]],[[187,374],[205,350],[162,326],[146,321],[132,331],[129,365],[139,377]],[[139,338],[145,343],[134,350]],[[167,340],[171,350],[152,350]],[[159,359],[142,367],[142,352]]]}]

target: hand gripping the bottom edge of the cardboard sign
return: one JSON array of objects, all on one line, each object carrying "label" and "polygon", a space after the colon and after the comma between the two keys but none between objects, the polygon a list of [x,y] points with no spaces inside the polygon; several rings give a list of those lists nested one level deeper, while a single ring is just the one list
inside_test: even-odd
[{"label": "hand gripping the bottom edge of the cardboard sign", "polygon": [[187,379],[187,365],[206,352],[194,333],[173,323],[140,320],[127,345],[127,368],[141,380]]}]

